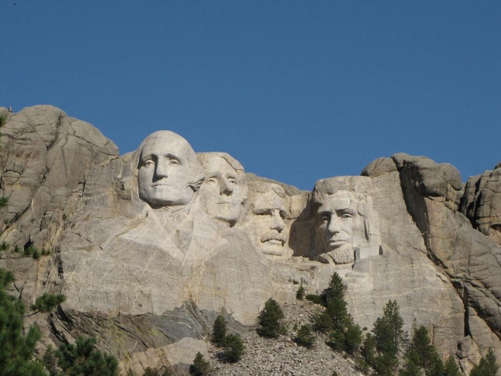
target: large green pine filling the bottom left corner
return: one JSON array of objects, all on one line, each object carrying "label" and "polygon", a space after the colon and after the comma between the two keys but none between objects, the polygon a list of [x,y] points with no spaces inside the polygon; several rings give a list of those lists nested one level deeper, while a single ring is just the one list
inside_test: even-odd
[{"label": "large green pine filling the bottom left corner", "polygon": [[5,291],[13,281],[11,272],[0,269],[0,369],[10,376],[45,376],[43,365],[33,359],[40,330],[31,325],[23,334],[25,307],[21,300]]}]

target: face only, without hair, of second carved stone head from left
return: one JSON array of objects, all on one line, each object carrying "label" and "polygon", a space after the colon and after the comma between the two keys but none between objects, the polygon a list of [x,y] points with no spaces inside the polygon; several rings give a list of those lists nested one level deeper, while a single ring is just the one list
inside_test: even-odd
[{"label": "face only, without hair, of second carved stone head from left", "polygon": [[242,192],[237,172],[219,156],[204,164],[205,181],[200,187],[200,199],[205,212],[230,226],[240,215]]}]

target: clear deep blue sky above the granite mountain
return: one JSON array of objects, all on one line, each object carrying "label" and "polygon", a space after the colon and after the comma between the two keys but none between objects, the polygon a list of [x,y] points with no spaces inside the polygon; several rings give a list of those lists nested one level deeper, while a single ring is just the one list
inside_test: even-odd
[{"label": "clear deep blue sky above the granite mountain", "polygon": [[[14,5],[16,4],[16,5]],[[301,189],[380,156],[501,160],[499,1],[0,0],[0,106],[120,148],[169,129]]]}]

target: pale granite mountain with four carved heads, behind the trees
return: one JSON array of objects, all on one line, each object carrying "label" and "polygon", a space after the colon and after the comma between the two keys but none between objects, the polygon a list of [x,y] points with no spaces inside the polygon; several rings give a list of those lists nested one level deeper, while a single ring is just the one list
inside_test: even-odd
[{"label": "pale granite mountain with four carved heads, behind the trees", "polygon": [[168,130],[119,155],[58,108],[0,115],[0,242],[53,251],[0,267],[26,303],[67,296],[27,319],[42,347],[84,333],[138,372],[189,364],[218,314],[243,332],[268,298],[295,299],[291,281],[316,293],[336,271],[361,326],[395,299],[464,371],[488,348],[501,358],[501,164],[463,183],[397,153],[306,192]]}]

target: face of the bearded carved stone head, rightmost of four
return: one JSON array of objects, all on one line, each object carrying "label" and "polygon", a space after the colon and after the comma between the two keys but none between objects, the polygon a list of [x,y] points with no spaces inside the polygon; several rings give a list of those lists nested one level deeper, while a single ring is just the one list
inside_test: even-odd
[{"label": "face of the bearded carved stone head, rightmost of four", "polygon": [[353,251],[356,216],[357,202],[349,191],[323,197],[323,204],[317,210],[317,223],[325,253]]}]

